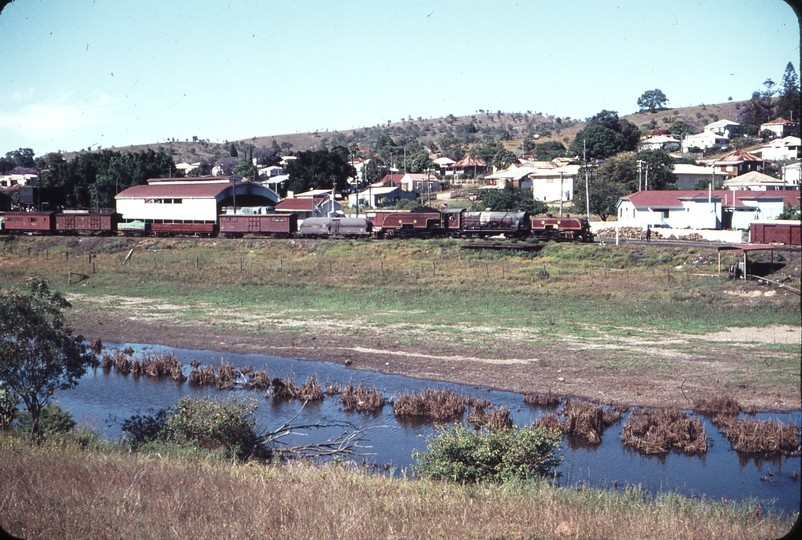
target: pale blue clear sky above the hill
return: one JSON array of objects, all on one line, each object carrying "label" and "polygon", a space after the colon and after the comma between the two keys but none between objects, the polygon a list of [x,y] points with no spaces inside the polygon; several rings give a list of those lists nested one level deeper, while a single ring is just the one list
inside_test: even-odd
[{"label": "pale blue clear sky above the hill", "polygon": [[15,0],[0,155],[745,100],[799,41],[783,0]]}]

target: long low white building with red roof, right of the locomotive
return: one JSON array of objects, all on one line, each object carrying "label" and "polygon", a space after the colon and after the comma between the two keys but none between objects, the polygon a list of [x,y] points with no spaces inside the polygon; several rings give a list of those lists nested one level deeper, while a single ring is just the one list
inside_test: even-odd
[{"label": "long low white building with red roof, right of the locomotive", "polygon": [[618,224],[746,230],[752,221],[776,219],[787,204],[799,204],[798,191],[639,191],[618,200]]}]

